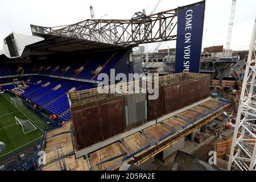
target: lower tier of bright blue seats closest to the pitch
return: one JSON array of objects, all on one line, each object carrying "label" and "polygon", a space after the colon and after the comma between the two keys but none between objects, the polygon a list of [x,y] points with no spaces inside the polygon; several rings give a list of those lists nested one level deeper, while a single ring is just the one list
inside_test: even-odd
[{"label": "lower tier of bright blue seats closest to the pitch", "polygon": [[[37,81],[40,84],[35,84]],[[77,90],[93,88],[93,84],[79,81],[70,81],[56,79],[44,76],[32,76],[29,80],[31,86],[24,90],[22,96],[28,98],[32,103],[42,107],[49,114],[56,114],[62,121],[68,121],[71,118],[67,92],[75,87]],[[43,86],[49,82],[47,86]],[[61,85],[60,88],[54,90],[55,86]]]}]

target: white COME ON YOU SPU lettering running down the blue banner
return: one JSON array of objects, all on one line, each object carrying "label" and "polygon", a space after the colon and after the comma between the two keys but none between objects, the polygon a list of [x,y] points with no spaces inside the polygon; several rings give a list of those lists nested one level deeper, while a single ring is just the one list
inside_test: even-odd
[{"label": "white COME ON YOU SPU lettering running down the blue banner", "polygon": [[[192,30],[192,18],[193,18],[193,10],[187,10],[185,16],[185,31]],[[183,72],[189,72],[189,64],[190,64],[190,52],[191,52],[191,33],[187,32],[184,35],[185,44],[189,44],[188,46],[184,46],[184,61],[183,61]]]}]

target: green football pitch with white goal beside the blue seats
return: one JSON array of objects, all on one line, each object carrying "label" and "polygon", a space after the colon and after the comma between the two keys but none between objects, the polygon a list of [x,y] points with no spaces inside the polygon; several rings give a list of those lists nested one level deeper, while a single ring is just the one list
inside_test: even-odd
[{"label": "green football pitch with white goal beside the blue seats", "polygon": [[[45,127],[42,119],[25,106],[15,107],[10,98],[8,93],[0,94],[0,141],[6,144],[6,150],[0,154],[0,161],[38,142]],[[24,134],[22,126],[16,124],[14,117],[30,121],[36,130]]]}]

